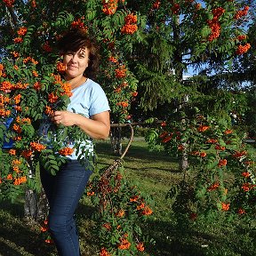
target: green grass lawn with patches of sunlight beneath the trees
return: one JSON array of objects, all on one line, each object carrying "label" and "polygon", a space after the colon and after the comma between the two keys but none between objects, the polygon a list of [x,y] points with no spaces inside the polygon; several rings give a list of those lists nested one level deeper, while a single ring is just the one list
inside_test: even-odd
[{"label": "green grass lawn with patches of sunlight beneath the trees", "polygon": [[[124,147],[126,140],[124,140]],[[112,154],[109,141],[97,142],[99,167],[112,164],[117,158]],[[124,157],[127,177],[140,190],[155,199],[154,214],[143,227],[144,233],[155,239],[156,244],[147,248],[151,256],[254,256],[256,248],[255,223],[251,228],[230,225],[223,220],[216,223],[195,223],[191,228],[177,224],[170,199],[165,199],[172,184],[177,184],[182,174],[178,163],[164,152],[149,152],[144,140],[134,140]],[[0,202],[0,255],[56,255],[54,246],[44,244],[39,226],[23,218],[23,204]],[[84,196],[77,209],[81,249],[84,256],[96,256],[99,252],[97,237],[93,236],[92,207]],[[254,227],[253,227],[254,225]]]}]

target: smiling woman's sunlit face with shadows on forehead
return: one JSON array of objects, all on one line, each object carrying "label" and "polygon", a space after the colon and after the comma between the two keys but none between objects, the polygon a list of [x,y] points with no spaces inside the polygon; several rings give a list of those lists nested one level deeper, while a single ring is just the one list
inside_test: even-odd
[{"label": "smiling woman's sunlit face with shadows on forehead", "polygon": [[87,47],[80,48],[77,52],[66,52],[63,64],[66,65],[67,78],[83,76],[88,67],[90,50]]}]

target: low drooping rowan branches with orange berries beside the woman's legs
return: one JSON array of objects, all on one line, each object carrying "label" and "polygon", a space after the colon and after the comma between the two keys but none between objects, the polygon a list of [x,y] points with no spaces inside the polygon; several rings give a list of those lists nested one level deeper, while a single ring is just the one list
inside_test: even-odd
[{"label": "low drooping rowan branches with orange berries beside the woman's legs", "polygon": [[125,178],[120,164],[116,161],[107,169],[102,168],[87,188],[87,196],[91,196],[92,204],[99,209],[94,219],[100,255],[147,255],[145,245],[153,241],[143,237],[141,223],[152,214],[152,203]]}]

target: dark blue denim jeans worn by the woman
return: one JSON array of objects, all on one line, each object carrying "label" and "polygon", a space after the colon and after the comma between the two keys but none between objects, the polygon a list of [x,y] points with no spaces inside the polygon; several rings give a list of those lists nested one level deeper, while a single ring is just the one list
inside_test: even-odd
[{"label": "dark blue denim jeans worn by the woman", "polygon": [[74,213],[91,174],[76,160],[68,160],[56,176],[41,168],[41,182],[50,205],[49,231],[61,256],[80,255]]}]

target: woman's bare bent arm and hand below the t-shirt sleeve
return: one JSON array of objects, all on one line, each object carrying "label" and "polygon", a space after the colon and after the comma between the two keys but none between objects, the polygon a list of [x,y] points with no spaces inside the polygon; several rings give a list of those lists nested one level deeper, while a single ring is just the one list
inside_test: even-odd
[{"label": "woman's bare bent arm and hand below the t-shirt sleeve", "polygon": [[69,111],[55,111],[52,122],[65,126],[77,125],[93,139],[107,139],[110,130],[109,111],[93,115],[92,119]]}]

